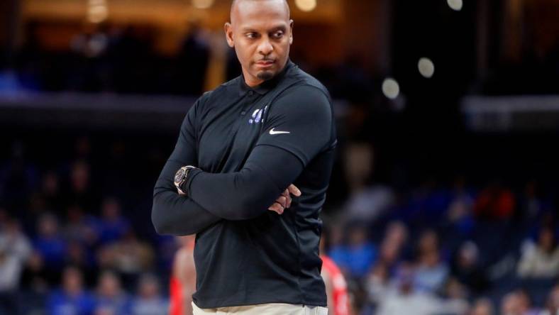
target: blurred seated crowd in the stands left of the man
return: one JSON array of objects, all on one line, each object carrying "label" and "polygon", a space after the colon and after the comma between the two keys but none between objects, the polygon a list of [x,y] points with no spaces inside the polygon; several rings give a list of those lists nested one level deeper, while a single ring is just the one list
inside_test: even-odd
[{"label": "blurred seated crowd in the stands left of the man", "polygon": [[43,170],[21,150],[0,163],[0,314],[168,314],[165,244],[99,199],[89,161]]}]

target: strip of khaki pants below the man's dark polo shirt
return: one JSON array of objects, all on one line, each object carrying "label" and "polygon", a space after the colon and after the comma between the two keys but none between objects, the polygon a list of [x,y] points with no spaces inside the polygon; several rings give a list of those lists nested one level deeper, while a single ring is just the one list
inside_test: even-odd
[{"label": "strip of khaki pants below the man's dark polo shirt", "polygon": [[328,309],[322,306],[306,306],[284,303],[268,303],[247,306],[218,307],[217,309],[200,309],[192,302],[194,315],[328,315]]}]

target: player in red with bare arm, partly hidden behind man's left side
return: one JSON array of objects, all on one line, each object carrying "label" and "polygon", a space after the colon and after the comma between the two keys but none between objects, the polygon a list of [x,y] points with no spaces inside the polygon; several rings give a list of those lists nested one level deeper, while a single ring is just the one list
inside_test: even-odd
[{"label": "player in red with bare arm, partly hidden behind man's left side", "polygon": [[182,247],[175,254],[170,280],[170,315],[192,315],[192,294],[196,291],[194,235],[181,236]]}]

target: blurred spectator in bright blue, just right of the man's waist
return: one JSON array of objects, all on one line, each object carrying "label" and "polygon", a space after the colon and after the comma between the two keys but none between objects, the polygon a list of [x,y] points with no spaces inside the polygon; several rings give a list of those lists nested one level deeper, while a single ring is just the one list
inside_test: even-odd
[{"label": "blurred spectator in bright blue, just right of the man's waist", "polygon": [[377,258],[377,248],[367,235],[367,228],[359,223],[348,226],[348,243],[331,249],[332,260],[350,277],[360,278],[367,274]]}]

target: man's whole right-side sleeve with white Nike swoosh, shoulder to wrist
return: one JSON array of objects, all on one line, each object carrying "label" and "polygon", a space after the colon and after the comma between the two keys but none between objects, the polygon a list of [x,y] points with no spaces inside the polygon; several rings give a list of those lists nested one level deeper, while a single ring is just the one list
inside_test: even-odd
[{"label": "man's whole right-side sleeve with white Nike swoosh, shoulder to wrist", "polygon": [[280,96],[262,135],[239,172],[192,170],[187,194],[227,220],[260,216],[292,184],[331,139],[331,106],[326,94],[303,86]]}]

